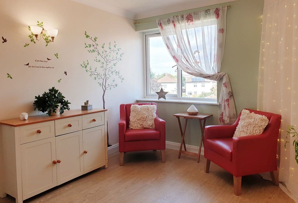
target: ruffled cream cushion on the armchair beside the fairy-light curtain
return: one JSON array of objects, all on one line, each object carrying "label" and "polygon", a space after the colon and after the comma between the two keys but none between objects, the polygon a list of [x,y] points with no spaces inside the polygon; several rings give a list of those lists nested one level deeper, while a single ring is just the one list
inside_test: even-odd
[{"label": "ruffled cream cushion on the armchair beside the fairy-light curtain", "polygon": [[250,113],[249,110],[243,109],[234,137],[260,135],[268,125],[268,122],[269,120],[265,115]]}]

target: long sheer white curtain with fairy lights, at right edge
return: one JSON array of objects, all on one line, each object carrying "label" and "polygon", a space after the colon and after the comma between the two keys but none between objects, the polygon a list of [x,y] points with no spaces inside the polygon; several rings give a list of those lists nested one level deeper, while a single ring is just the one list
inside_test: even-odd
[{"label": "long sheer white curtain with fairy lights, at right edge", "polygon": [[[277,0],[266,5],[260,49],[258,109],[282,115],[280,187],[298,201],[298,146],[287,135],[289,125],[298,130],[298,1]],[[298,131],[297,131],[298,132]]]}]

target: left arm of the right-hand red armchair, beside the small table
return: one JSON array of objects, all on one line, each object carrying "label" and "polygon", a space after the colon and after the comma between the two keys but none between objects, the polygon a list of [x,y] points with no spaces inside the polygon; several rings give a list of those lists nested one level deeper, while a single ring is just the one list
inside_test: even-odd
[{"label": "left arm of the right-hand red armchair, beside the small table", "polygon": [[236,125],[218,125],[218,126],[206,126],[204,131],[205,140],[212,138],[231,138],[236,130]]}]

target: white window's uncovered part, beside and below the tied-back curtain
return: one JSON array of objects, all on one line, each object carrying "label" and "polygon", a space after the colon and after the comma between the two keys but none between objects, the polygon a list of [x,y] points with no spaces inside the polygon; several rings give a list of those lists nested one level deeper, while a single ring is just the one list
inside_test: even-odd
[{"label": "white window's uncovered part, beside and below the tied-back curtain", "polygon": [[147,97],[156,98],[155,92],[163,88],[164,91],[168,92],[166,96],[170,99],[197,99],[217,102],[216,81],[192,76],[179,67],[177,68],[160,33],[146,35],[145,39]]}]

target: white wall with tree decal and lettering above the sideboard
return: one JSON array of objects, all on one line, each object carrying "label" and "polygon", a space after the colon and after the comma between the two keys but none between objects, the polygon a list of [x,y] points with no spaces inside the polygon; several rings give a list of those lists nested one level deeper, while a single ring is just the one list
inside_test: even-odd
[{"label": "white wall with tree decal and lettering above the sideboard", "polygon": [[[53,86],[72,103],[71,109],[80,109],[86,99],[94,108],[103,107],[102,89],[80,66],[86,60],[95,66],[95,54],[84,48],[84,43],[88,42],[84,36],[87,31],[98,37],[99,44],[107,45],[115,40],[124,53],[117,65],[124,77],[123,83],[118,82],[117,88],[107,91],[105,98],[109,141],[118,143],[119,105],[143,97],[142,34],[135,32],[133,21],[70,0],[2,0],[0,19],[0,38],[7,38],[6,43],[0,43],[0,120],[17,118],[22,112],[37,115],[33,108],[34,96]],[[36,21],[43,21],[46,29],[59,30],[55,42],[48,47],[43,41],[24,47],[30,42],[28,25]],[[55,59],[54,53],[59,54],[59,59]],[[47,65],[55,68],[35,69],[24,65],[38,64],[35,59],[46,60],[47,57],[52,59]],[[7,73],[13,79],[7,78]],[[61,83],[58,83],[60,78]],[[0,165],[0,172],[1,168]],[[0,180],[0,193],[1,187]]]}]

